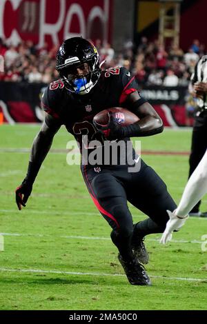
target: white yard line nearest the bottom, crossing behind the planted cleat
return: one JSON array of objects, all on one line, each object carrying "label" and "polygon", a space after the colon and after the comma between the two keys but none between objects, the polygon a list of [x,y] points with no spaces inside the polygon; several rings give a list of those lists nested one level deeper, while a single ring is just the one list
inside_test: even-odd
[{"label": "white yard line nearest the bottom, crossing behind the planted cleat", "polygon": [[[0,272],[28,272],[28,273],[42,273],[42,274],[72,274],[75,276],[125,276],[124,274],[103,274],[97,272],[70,272],[70,271],[57,271],[57,270],[40,270],[40,269],[7,269],[0,267]],[[206,282],[207,279],[200,278],[183,278],[173,276],[150,276],[155,279],[162,280],[180,280],[180,281],[201,281]]]}]

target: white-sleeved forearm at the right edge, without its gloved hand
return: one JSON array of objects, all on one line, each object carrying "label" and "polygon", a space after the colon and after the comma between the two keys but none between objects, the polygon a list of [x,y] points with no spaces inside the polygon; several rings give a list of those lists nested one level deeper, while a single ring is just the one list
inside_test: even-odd
[{"label": "white-sleeved forearm at the right edge, without its gloved hand", "polygon": [[186,216],[207,192],[207,151],[190,176],[181,201],[177,207],[178,216]]}]

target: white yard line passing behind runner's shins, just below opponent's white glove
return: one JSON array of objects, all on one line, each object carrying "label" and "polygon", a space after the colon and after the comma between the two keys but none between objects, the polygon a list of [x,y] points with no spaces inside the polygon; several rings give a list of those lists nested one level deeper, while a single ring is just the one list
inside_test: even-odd
[{"label": "white yard line passing behind runner's shins, just below opponent's white glove", "polygon": [[[78,235],[49,235],[49,234],[26,234],[26,233],[0,233],[4,236],[34,236],[34,237],[53,237],[53,238],[61,238],[61,239],[80,239],[80,240],[102,240],[102,241],[110,241],[110,237],[103,237],[103,236],[78,236]],[[161,235],[161,234],[160,234]],[[152,241],[152,242],[159,242],[159,239],[148,239],[146,238],[146,241]],[[188,240],[171,240],[170,242],[173,243],[204,243],[204,241],[188,241]]]}]

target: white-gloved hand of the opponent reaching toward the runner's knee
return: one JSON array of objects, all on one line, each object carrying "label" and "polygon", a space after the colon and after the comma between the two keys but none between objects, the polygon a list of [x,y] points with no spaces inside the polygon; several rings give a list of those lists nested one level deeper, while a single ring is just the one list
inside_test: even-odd
[{"label": "white-gloved hand of the opponent reaching toward the runner's knee", "polygon": [[170,210],[167,210],[168,215],[170,217],[168,223],[166,223],[166,229],[164,230],[164,233],[161,236],[161,239],[159,243],[166,244],[168,241],[172,239],[172,232],[179,230],[184,223],[186,222],[186,219],[188,219],[188,215],[185,217],[180,217],[176,215],[176,210],[173,212],[170,212]]}]

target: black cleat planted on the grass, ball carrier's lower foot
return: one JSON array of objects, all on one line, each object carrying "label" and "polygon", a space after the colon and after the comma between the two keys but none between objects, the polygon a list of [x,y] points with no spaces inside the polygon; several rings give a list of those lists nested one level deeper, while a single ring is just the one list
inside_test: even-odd
[{"label": "black cleat planted on the grass, ball carrier's lower foot", "polygon": [[144,269],[137,259],[131,261],[124,261],[121,254],[118,254],[119,262],[121,263],[127,279],[131,285],[151,285],[151,281]]}]

